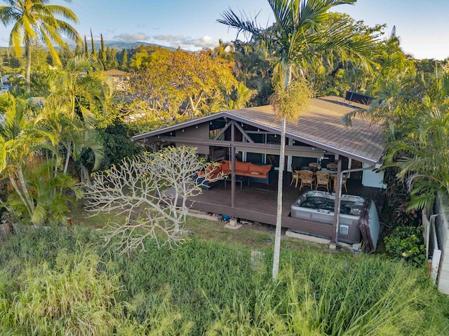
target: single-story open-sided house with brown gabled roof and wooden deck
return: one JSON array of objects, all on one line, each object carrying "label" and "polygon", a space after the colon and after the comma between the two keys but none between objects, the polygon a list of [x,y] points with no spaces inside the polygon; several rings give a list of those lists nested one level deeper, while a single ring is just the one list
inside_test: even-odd
[{"label": "single-story open-sided house with brown gabled roof and wooden deck", "polygon": [[[335,205],[340,204],[342,174],[347,174],[358,190],[370,190],[371,193],[382,190],[383,173],[378,172],[385,146],[381,125],[360,118],[355,118],[351,127],[342,123],[347,113],[361,107],[363,105],[344,101],[341,97],[311,99],[309,110],[302,113],[298,123],[288,123],[286,126],[284,167],[279,167],[281,122],[276,120],[272,106],[222,111],[139,134],[133,137],[133,141],[144,141],[154,150],[169,145],[194,146],[208,160],[229,160],[227,185],[223,183],[220,190],[214,192],[213,188],[197,196],[192,207],[248,221],[274,225],[277,192],[276,188],[270,190],[262,184],[253,183],[254,179],[244,181],[245,188],[241,181],[236,186],[239,182],[235,174],[236,162],[272,165],[276,176],[279,169],[283,169],[288,179],[283,188],[283,227],[335,241],[338,235],[335,231],[338,227],[337,216],[334,216],[333,223],[314,223],[290,216],[290,205],[300,195],[294,185],[289,185],[293,178],[290,172],[311,162],[321,167],[326,167],[328,163],[337,164]],[[268,187],[277,186],[277,177],[264,182]],[[223,188],[229,184],[231,188]]]}]

